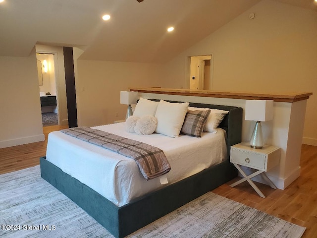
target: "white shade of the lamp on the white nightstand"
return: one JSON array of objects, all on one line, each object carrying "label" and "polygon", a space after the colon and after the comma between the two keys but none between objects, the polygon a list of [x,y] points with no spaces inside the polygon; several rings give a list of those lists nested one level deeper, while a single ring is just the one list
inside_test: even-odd
[{"label": "white shade of the lamp on the white nightstand", "polygon": [[246,120],[267,121],[273,119],[273,100],[246,100]]}]

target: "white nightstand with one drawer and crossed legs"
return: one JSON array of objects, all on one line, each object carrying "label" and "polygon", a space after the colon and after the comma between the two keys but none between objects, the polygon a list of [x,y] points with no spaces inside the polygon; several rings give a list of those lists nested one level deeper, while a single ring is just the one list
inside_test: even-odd
[{"label": "white nightstand with one drawer and crossed legs", "polygon": [[[265,145],[262,149],[253,149],[249,143],[244,142],[231,146],[230,162],[238,169],[244,178],[232,183],[230,186],[234,187],[244,181],[248,181],[254,190],[256,190],[261,197],[265,198],[264,194],[251,179],[257,175],[261,175],[271,188],[276,189],[276,186],[267,178],[265,172],[279,164],[279,157],[280,148],[275,146]],[[257,171],[247,176],[241,169],[241,166],[256,169]]]}]

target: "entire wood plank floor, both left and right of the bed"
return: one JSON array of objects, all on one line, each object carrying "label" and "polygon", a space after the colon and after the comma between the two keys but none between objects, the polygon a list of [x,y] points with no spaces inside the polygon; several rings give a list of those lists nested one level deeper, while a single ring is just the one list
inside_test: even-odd
[{"label": "entire wood plank floor, both left and right of the bed", "polygon": [[[46,140],[27,145],[0,149],[0,174],[38,165],[39,158],[46,154],[48,133],[67,126],[46,126]],[[232,181],[212,192],[243,203],[250,207],[306,227],[303,238],[317,238],[317,147],[302,145],[301,176],[285,190],[256,183],[266,198],[261,198],[248,182],[230,187]]]}]

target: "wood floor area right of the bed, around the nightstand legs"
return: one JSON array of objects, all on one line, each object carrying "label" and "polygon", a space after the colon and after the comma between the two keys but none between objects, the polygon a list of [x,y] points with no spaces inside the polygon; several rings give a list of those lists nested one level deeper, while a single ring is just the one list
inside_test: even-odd
[{"label": "wood floor area right of the bed, around the nightstand legs", "polygon": [[317,238],[317,146],[302,145],[300,166],[301,176],[284,190],[256,182],[266,198],[258,196],[247,181],[229,186],[241,178],[212,192],[306,227],[303,238]]}]

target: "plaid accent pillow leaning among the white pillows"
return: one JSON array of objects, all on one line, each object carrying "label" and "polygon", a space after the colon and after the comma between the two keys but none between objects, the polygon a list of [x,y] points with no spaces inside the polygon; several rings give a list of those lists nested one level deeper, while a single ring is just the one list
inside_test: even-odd
[{"label": "plaid accent pillow leaning among the white pillows", "polygon": [[210,115],[210,110],[206,111],[187,111],[181,132],[185,135],[201,137],[204,126]]}]

